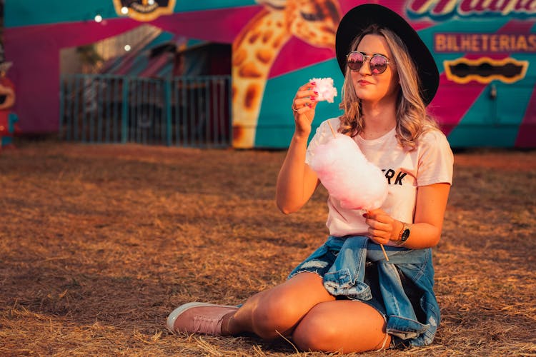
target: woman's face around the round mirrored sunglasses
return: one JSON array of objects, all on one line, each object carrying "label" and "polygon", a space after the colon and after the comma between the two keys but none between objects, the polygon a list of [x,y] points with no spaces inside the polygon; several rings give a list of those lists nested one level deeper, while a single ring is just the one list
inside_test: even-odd
[{"label": "woman's face around the round mirrored sunglasses", "polygon": [[[391,50],[387,45],[384,37],[381,35],[369,34],[365,35],[359,42],[356,51],[361,52],[366,56],[381,54],[387,57],[389,62],[394,62]],[[355,94],[364,103],[378,103],[396,101],[399,91],[397,67],[389,64],[387,69],[382,74],[372,75],[369,66],[369,58],[359,71],[350,71],[352,76],[352,84]]]}]

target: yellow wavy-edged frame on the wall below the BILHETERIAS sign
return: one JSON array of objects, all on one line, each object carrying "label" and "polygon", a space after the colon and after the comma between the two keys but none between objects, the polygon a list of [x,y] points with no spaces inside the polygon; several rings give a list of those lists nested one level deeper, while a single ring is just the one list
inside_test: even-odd
[{"label": "yellow wavy-edged frame on the wall below the BILHETERIAS sign", "polygon": [[[521,73],[517,76],[513,76],[510,78],[507,78],[501,74],[493,74],[492,76],[483,77],[478,74],[470,74],[468,76],[465,76],[463,78],[460,78],[458,76],[455,76],[452,74],[452,71],[450,71],[451,66],[456,66],[457,64],[467,64],[470,66],[478,66],[482,63],[488,63],[492,66],[504,66],[505,64],[515,64],[516,66],[522,66]],[[512,57],[507,57],[506,59],[490,59],[490,57],[481,57],[480,59],[466,59],[465,57],[462,57],[460,59],[455,59],[454,61],[443,61],[443,66],[445,68],[445,74],[447,74],[447,79],[450,81],[455,81],[459,84],[466,84],[469,81],[477,81],[482,84],[490,83],[491,81],[498,79],[499,81],[505,82],[505,83],[514,83],[516,81],[519,81],[520,79],[524,79],[525,75],[527,74],[527,69],[529,68],[529,61],[517,61],[517,59],[512,59]]]}]

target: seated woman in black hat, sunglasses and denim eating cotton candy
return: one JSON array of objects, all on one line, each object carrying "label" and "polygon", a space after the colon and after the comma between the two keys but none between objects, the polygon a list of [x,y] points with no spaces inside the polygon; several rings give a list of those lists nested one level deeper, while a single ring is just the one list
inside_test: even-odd
[{"label": "seated woman in black hat, sunglasses and denim eating cotton candy", "polygon": [[[363,212],[329,196],[330,236],[287,281],[240,308],[180,306],[169,315],[170,330],[290,336],[303,351],[343,353],[432,342],[440,316],[430,248],[440,239],[452,182],[452,151],[425,108],[437,91],[437,67],[402,17],[373,4],[344,16],[336,52],[345,77],[344,114],[329,123],[384,171],[387,201]],[[284,213],[312,196],[319,179],[307,162],[332,135],[324,121],[307,147],[315,96],[314,84],[305,84],[292,103],[295,131],[277,178]]]}]

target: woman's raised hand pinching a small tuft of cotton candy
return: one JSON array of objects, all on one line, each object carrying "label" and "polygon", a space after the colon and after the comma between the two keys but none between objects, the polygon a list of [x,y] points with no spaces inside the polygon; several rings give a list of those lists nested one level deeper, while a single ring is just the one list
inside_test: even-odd
[{"label": "woman's raised hand pinching a small tuft of cotton candy", "polygon": [[318,92],[314,91],[314,82],[309,82],[299,87],[294,100],[292,111],[296,124],[295,135],[309,137],[314,119],[314,109],[317,107]]}]

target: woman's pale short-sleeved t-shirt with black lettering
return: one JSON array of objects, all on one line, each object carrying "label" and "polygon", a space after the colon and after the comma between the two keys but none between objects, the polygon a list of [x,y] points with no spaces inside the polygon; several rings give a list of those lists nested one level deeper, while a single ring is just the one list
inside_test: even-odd
[{"label": "woman's pale short-sleeved t-shirt with black lettering", "polygon": [[[328,119],[335,131],[339,128],[339,118]],[[378,139],[365,140],[354,137],[357,146],[372,164],[381,169],[389,190],[382,209],[398,221],[412,223],[417,201],[417,187],[432,183],[452,183],[454,157],[449,142],[439,130],[427,131],[418,139],[417,147],[407,151],[398,144],[396,128]],[[332,139],[327,121],[322,122],[314,134],[305,158],[309,164],[313,149]],[[332,236],[357,236],[367,233],[363,210],[342,208],[337,199],[328,196],[328,216],[326,226]]]}]

